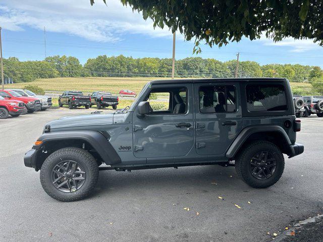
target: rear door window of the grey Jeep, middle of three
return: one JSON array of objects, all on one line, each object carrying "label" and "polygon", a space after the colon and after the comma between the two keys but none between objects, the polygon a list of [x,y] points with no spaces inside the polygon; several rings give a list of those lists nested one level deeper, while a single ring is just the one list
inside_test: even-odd
[{"label": "rear door window of the grey Jeep, middle of three", "polygon": [[236,89],[232,85],[201,86],[198,94],[201,113],[235,112],[237,110]]}]

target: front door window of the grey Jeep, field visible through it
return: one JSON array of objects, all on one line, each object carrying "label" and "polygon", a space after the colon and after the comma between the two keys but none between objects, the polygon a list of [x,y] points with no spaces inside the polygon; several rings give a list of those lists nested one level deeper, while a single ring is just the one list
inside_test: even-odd
[{"label": "front door window of the grey Jeep, field visible through it", "polygon": [[184,114],[187,111],[187,89],[185,87],[152,89],[146,98],[151,114]]}]

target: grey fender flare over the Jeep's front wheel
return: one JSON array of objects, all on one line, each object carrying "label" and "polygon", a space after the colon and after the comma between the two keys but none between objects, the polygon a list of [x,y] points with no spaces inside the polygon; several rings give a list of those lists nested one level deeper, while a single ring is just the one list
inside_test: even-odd
[{"label": "grey fender flare over the Jeep's front wheel", "polygon": [[107,165],[121,163],[120,156],[109,142],[109,134],[105,131],[79,130],[79,131],[58,131],[42,134],[38,140],[42,141],[39,146],[33,149],[39,150],[42,146],[51,141],[81,140],[89,143]]}]

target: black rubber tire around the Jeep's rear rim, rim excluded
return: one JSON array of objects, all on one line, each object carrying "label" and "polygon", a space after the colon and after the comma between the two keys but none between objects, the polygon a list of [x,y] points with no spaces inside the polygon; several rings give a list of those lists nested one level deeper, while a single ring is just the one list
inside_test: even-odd
[{"label": "black rubber tire around the Jeep's rear rim, rim excluded", "polygon": [[[267,141],[257,141],[243,147],[242,149],[243,150],[235,159],[235,168],[239,177],[246,184],[253,188],[267,188],[277,183],[283,174],[285,160],[281,150],[275,144]],[[249,166],[252,157],[261,151],[271,152],[277,160],[277,166],[274,174],[270,178],[264,180],[255,178],[252,175]]]}]

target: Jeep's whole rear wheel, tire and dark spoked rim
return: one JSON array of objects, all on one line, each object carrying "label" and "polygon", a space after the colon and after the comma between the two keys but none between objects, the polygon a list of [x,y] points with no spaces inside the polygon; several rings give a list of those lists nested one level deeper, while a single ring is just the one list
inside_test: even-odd
[{"label": "Jeep's whole rear wheel, tire and dark spoked rim", "polygon": [[275,144],[258,141],[242,150],[235,160],[235,167],[239,177],[250,187],[267,188],[282,176],[285,160]]}]

